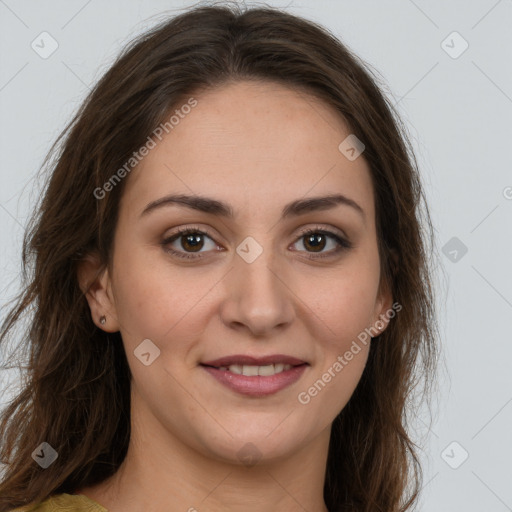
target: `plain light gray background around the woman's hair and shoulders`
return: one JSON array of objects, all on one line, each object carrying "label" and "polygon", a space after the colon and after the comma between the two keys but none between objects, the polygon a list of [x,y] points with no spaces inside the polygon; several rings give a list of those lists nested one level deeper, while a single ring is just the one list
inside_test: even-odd
[{"label": "plain light gray background around the woman's hair and shoulders", "polygon": [[[0,0],[0,306],[17,290],[33,176],[51,142],[128,40],[192,4]],[[428,435],[419,510],[512,511],[512,1],[268,4],[327,26],[382,74],[413,137],[437,244],[467,247],[457,261],[441,253],[449,376],[430,431],[413,434]],[[43,31],[59,45],[47,59],[31,48]],[[463,40],[442,44],[453,31],[469,44],[457,58],[445,49],[456,55]],[[0,378],[5,402],[16,381]]]}]

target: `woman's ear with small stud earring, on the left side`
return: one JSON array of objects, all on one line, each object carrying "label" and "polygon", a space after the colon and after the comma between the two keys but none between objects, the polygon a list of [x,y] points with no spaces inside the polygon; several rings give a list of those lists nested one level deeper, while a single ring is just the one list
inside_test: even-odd
[{"label": "woman's ear with small stud earring, on the left side", "polygon": [[[77,279],[89,303],[92,321],[106,332],[119,331],[110,275],[97,254],[87,254],[78,263]],[[101,324],[103,316],[105,323]]]}]

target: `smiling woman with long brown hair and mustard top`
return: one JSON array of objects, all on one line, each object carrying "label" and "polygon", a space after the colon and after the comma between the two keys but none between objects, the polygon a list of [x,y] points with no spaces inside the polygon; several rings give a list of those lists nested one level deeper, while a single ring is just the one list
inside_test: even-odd
[{"label": "smiling woman with long brown hair and mustard top", "polygon": [[59,140],[0,338],[35,306],[0,512],[410,510],[432,227],[363,63],[291,14],[198,7]]}]

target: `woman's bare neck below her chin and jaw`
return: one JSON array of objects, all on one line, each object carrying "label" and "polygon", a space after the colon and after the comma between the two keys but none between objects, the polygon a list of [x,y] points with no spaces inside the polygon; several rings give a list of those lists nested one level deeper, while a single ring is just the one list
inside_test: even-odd
[{"label": "woman's bare neck below her chin and jaw", "polygon": [[78,491],[109,512],[328,512],[323,487],[330,425],[279,460],[242,465],[208,457],[159,422],[137,421],[118,471]]}]

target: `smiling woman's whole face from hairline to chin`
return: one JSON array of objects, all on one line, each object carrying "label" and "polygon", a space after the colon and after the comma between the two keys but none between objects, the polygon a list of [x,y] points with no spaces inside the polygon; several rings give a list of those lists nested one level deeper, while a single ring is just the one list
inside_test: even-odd
[{"label": "smiling woman's whole face from hairline to chin", "polygon": [[[121,332],[146,434],[270,461],[328,436],[367,361],[361,334],[391,306],[369,168],[304,93],[244,81],[194,98],[125,178],[97,311]],[[347,201],[316,201],[332,195]]]}]

